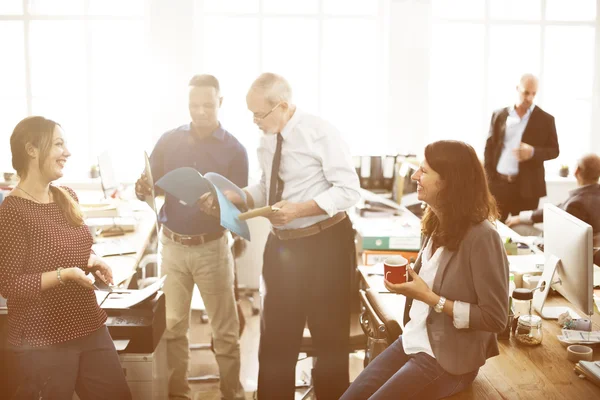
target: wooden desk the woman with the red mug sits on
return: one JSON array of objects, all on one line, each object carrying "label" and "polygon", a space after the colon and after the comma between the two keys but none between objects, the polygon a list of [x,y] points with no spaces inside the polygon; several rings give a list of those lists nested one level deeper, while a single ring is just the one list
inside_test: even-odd
[{"label": "wooden desk the woman with the red mug sits on", "polygon": [[[369,275],[374,267],[359,267],[362,284],[379,290],[383,279]],[[379,296],[388,307],[397,307],[402,321],[404,296]],[[561,296],[548,298],[549,306],[568,305]],[[583,313],[580,313],[584,315]],[[594,330],[600,329],[600,315],[592,318]],[[451,399],[598,399],[600,387],[581,379],[573,372],[574,364],[567,360],[567,349],[556,335],[560,327],[554,320],[543,321],[544,338],[539,346],[519,344],[514,338],[499,340],[500,355],[487,360],[479,370],[473,385]],[[600,347],[594,348],[594,360],[600,360]]]}]

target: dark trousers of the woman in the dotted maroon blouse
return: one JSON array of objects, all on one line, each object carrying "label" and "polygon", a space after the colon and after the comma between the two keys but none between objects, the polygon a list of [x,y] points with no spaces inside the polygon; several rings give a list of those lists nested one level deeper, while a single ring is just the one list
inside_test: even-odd
[{"label": "dark trousers of the woman in the dotted maroon blouse", "polygon": [[13,347],[19,387],[13,399],[129,400],[119,356],[106,326],[44,347]]}]

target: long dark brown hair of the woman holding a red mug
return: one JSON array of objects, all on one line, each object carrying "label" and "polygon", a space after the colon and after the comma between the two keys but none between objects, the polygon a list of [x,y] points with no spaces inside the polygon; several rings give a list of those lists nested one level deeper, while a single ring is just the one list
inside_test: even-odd
[{"label": "long dark brown hair of the woman holding a red mug", "polygon": [[425,147],[425,160],[443,181],[437,212],[427,208],[421,230],[437,246],[456,250],[469,228],[498,218],[496,200],[487,185],[485,171],[470,145],[440,140]]}]

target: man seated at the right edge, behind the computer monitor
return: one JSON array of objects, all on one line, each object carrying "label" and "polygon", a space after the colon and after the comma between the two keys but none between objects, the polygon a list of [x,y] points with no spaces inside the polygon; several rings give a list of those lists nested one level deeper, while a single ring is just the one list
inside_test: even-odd
[{"label": "man seated at the right edge, behind the computer monitor", "polygon": [[[600,157],[588,154],[577,162],[575,179],[578,188],[558,207],[592,226],[594,235],[600,234]],[[519,215],[508,217],[506,225],[524,236],[537,236],[541,230],[531,226],[544,221],[544,209],[521,211]]]}]

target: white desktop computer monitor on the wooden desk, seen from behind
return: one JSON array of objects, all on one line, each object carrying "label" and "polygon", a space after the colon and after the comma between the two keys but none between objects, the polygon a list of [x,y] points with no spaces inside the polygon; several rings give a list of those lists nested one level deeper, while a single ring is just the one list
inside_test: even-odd
[{"label": "white desktop computer monitor on the wooden desk, seen from behind", "polygon": [[558,291],[578,310],[594,314],[593,298],[593,233],[592,227],[568,212],[544,204],[544,255],[545,266],[534,307],[543,318],[558,318],[565,311],[577,316],[568,307],[543,307],[554,283]]}]

